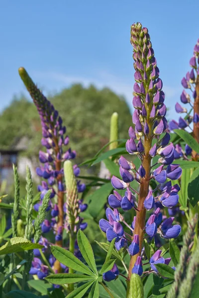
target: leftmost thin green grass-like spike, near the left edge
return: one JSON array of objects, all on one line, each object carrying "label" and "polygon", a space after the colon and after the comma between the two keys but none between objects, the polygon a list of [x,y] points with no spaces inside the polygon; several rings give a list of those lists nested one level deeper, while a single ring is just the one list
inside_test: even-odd
[{"label": "leftmost thin green grass-like spike, near the left edge", "polygon": [[12,237],[16,237],[17,220],[19,216],[20,184],[19,184],[17,167],[14,164],[13,164],[13,172],[14,172],[14,206],[13,206],[13,213],[11,216],[11,222],[12,222]]}]

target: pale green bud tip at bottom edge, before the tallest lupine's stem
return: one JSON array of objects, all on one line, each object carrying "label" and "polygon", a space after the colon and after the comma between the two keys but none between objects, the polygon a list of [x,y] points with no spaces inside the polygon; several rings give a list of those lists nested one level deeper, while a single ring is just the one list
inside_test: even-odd
[{"label": "pale green bud tip at bottom edge, before the tallest lupine's stem", "polygon": [[143,283],[138,274],[133,273],[131,275],[128,298],[144,298]]}]

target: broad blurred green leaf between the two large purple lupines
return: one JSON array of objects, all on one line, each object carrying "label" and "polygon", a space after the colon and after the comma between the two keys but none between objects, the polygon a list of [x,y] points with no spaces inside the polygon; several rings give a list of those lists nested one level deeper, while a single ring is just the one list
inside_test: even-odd
[{"label": "broad blurred green leaf between the two large purple lupines", "polygon": [[93,194],[88,196],[87,202],[89,203],[88,212],[94,217],[99,216],[100,211],[103,209],[104,204],[107,202],[108,195],[112,191],[112,184],[106,183],[98,188]]}]

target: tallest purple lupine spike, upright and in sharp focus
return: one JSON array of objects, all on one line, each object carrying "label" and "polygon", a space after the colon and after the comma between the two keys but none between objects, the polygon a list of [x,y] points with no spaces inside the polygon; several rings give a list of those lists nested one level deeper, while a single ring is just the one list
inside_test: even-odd
[{"label": "tallest purple lupine spike, upright and in sharp focus", "polygon": [[[126,142],[126,150],[129,154],[136,155],[140,159],[141,165],[136,168],[132,161],[128,161],[123,156],[120,157],[122,180],[113,176],[111,183],[114,188],[126,189],[126,192],[122,197],[114,190],[114,194],[108,198],[108,203],[113,210],[107,208],[107,221],[100,220],[100,228],[106,233],[107,240],[110,242],[116,238],[116,249],[124,247],[130,254],[127,284],[129,284],[132,273],[140,276],[143,273],[141,252],[145,234],[149,240],[157,233],[161,237],[169,239],[177,237],[181,232],[179,224],[172,225],[174,218],[165,219],[161,224],[161,208],[156,208],[147,222],[146,211],[153,210],[155,203],[158,202],[161,203],[160,206],[168,208],[172,208],[178,203],[180,188],[178,185],[172,186],[171,180],[178,179],[182,173],[178,164],[172,164],[174,147],[172,143],[169,144],[170,135],[166,132],[168,125],[165,117],[165,94],[162,91],[163,84],[159,78],[159,69],[147,28],[142,27],[141,23],[134,23],[131,26],[130,40],[133,46],[134,93],[136,95],[133,97],[132,121],[134,129],[129,128],[130,139]],[[154,139],[157,141],[154,142]],[[159,159],[152,164],[152,159],[156,155],[160,155]],[[155,189],[150,186],[152,179],[157,185]],[[133,180],[137,182],[139,191],[132,188]],[[124,221],[118,211],[119,208],[123,211],[136,210],[133,223],[127,224]],[[124,231],[124,225],[129,228],[129,233]],[[157,250],[150,259],[151,270],[148,273],[157,272],[156,263],[168,265],[169,261],[170,259],[161,257],[161,250]],[[106,281],[113,279],[115,272],[117,270],[112,269],[111,274],[106,276]]]}]

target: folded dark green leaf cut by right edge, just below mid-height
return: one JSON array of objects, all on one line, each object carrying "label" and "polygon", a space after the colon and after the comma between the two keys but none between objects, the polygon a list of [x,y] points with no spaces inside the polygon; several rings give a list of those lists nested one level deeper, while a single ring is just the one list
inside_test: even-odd
[{"label": "folded dark green leaf cut by right edge, just below mid-height", "polygon": [[188,184],[188,197],[193,207],[199,202],[199,168],[192,174]]}]

